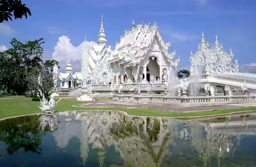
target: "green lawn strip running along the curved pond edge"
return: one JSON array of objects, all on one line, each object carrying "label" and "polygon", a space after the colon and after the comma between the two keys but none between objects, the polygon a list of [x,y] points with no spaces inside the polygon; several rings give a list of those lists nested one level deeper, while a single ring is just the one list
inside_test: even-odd
[{"label": "green lawn strip running along the curved pond edge", "polygon": [[[86,103],[86,102],[78,102],[76,101],[76,99],[63,99],[57,104],[55,111],[120,110],[120,111],[125,111],[130,115],[137,115],[137,116],[191,117],[191,116],[225,114],[225,113],[231,113],[236,111],[256,110],[256,107],[250,107],[250,108],[238,108],[238,109],[229,109],[229,110],[177,113],[177,112],[167,112],[167,111],[145,109],[145,108],[124,109],[124,108],[118,108],[118,107],[109,107],[109,108],[72,107],[72,105],[83,104],[83,103]],[[27,115],[27,114],[42,112],[37,106],[39,106],[39,102],[33,102],[31,99],[0,99],[0,119],[17,116],[17,115]]]}]

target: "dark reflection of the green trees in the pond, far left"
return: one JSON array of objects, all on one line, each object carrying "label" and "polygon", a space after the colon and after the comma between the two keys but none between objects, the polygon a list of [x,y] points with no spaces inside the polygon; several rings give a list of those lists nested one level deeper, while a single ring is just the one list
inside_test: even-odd
[{"label": "dark reflection of the green trees in the pond, far left", "polygon": [[[39,116],[34,115],[0,122],[0,141],[8,145],[8,154],[13,154],[20,148],[24,148],[26,153],[31,151],[40,154],[40,136],[43,132],[39,129],[38,118]],[[45,128],[44,131],[49,131],[49,128]]]}]

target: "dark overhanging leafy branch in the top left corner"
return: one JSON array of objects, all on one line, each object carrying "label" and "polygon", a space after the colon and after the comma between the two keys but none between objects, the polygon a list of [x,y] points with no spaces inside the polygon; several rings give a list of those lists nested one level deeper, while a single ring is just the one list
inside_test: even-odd
[{"label": "dark overhanging leafy branch in the top left corner", "polygon": [[31,12],[26,4],[22,4],[21,0],[0,0],[0,23],[4,21],[12,21],[12,12],[14,19],[27,19]]}]

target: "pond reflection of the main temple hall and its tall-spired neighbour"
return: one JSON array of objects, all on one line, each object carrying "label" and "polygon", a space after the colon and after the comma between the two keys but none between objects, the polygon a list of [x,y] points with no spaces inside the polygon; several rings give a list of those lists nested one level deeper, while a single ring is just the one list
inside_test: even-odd
[{"label": "pond reflection of the main temple hall and its tall-spired neighbour", "polygon": [[138,118],[118,112],[88,112],[81,117],[81,158],[84,163],[89,148],[98,149],[100,166],[105,158],[105,148],[113,145],[125,165],[159,166],[165,155],[171,154],[174,144],[172,129],[163,118]]}]

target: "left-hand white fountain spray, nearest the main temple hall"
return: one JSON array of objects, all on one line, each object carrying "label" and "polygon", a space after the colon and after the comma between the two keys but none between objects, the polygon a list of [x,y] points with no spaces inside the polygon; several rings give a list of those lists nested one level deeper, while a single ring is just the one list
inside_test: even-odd
[{"label": "left-hand white fountain spray, nearest the main temple hall", "polygon": [[175,69],[169,72],[168,76],[169,90],[168,96],[177,96],[177,73]]}]

